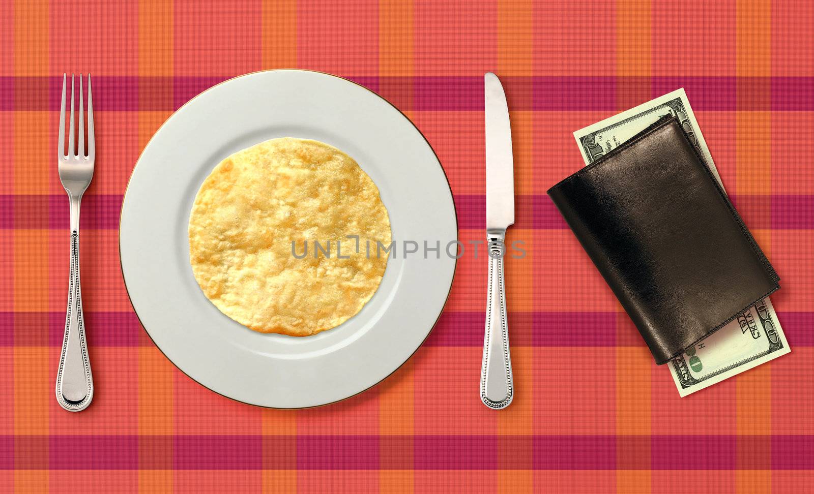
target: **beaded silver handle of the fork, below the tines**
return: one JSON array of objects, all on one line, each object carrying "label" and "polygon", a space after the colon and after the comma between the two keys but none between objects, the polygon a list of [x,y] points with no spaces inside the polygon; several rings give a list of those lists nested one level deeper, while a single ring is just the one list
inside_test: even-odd
[{"label": "beaded silver handle of the fork, below the tines", "polygon": [[68,279],[68,314],[65,336],[56,376],[56,399],[63,409],[85,410],[94,397],[90,373],[85,320],[82,317],[82,291],[79,280],[79,205],[81,197],[71,197],[71,269]]}]

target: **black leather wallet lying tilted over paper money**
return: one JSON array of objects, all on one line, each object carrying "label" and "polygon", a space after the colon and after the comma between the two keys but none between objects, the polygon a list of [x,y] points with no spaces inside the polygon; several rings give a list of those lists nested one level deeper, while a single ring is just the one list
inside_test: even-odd
[{"label": "black leather wallet lying tilted over paper money", "polygon": [[659,365],[780,288],[675,117],[659,119],[549,196]]}]

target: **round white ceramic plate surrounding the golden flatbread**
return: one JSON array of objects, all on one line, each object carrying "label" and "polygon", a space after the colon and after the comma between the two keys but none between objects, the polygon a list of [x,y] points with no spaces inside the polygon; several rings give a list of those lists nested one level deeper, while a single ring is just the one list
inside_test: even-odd
[{"label": "round white ceramic plate surrounding the golden flatbread", "polygon": [[[200,184],[226,156],[274,137],[316,139],[355,158],[379,187],[396,241],[361,312],[304,338],[229,319],[190,267],[187,223]],[[138,159],[119,232],[130,301],[155,345],[212,391],[275,408],[339,401],[396,371],[441,313],[455,271],[444,247],[456,240],[449,182],[409,119],[361,85],[298,70],[227,80],[176,111]],[[419,253],[405,258],[403,241],[417,241]],[[440,241],[440,258],[424,258],[423,241]]]}]

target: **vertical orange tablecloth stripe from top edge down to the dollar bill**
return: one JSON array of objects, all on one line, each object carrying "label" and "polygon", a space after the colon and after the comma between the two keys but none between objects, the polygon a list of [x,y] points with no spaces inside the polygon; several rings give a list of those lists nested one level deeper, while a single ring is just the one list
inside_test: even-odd
[{"label": "vertical orange tablecloth stripe from top edge down to the dollar bill", "polygon": [[650,99],[650,0],[616,2],[616,106],[619,111]]}]

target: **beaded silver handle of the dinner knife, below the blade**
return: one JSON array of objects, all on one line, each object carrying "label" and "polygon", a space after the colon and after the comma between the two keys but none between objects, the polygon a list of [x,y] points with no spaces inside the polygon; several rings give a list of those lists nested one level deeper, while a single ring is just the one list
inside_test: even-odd
[{"label": "beaded silver handle of the dinner knife, below the blade", "polygon": [[509,406],[514,397],[509,356],[509,327],[506,323],[502,232],[488,232],[489,280],[484,334],[484,365],[480,375],[480,400],[494,410]]}]

